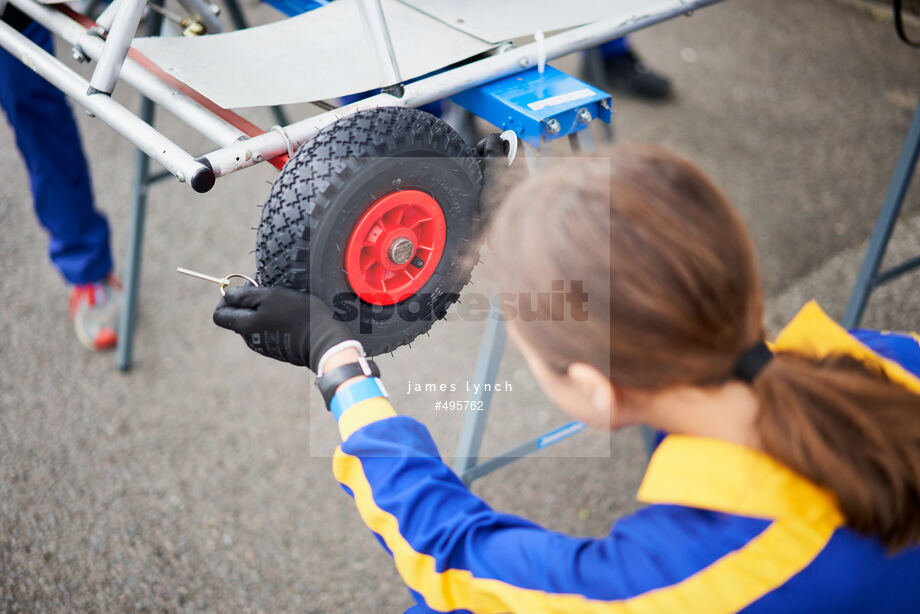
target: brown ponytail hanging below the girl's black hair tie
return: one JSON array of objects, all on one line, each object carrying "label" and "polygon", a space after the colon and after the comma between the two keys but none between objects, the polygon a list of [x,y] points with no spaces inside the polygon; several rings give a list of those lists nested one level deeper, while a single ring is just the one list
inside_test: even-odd
[{"label": "brown ponytail hanging below the girl's black hair tie", "polygon": [[754,380],[764,450],[894,550],[920,541],[920,397],[859,360],[779,353]]}]

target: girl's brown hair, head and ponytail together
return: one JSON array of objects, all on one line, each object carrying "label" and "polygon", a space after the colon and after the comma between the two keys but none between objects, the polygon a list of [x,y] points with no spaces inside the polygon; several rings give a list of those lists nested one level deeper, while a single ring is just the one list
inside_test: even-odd
[{"label": "girl's brown hair, head and ponytail together", "polygon": [[[662,149],[555,164],[510,192],[491,239],[501,282],[539,292],[579,280],[607,301],[594,313],[609,323],[595,329],[516,326],[548,365],[589,362],[623,389],[718,386],[764,338],[744,223],[702,171]],[[831,491],[853,529],[892,549],[920,541],[920,395],[855,358],[787,352],[753,388],[768,454]]]}]

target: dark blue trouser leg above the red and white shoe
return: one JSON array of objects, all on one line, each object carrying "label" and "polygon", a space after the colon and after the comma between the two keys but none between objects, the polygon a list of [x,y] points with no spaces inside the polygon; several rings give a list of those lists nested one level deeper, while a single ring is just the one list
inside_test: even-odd
[{"label": "dark blue trouser leg above the red and white shoe", "polygon": [[[23,32],[49,53],[51,33],[37,23]],[[29,171],[39,221],[51,235],[49,254],[72,284],[112,270],[109,225],[95,209],[89,169],[64,95],[0,49],[0,105]]]}]

